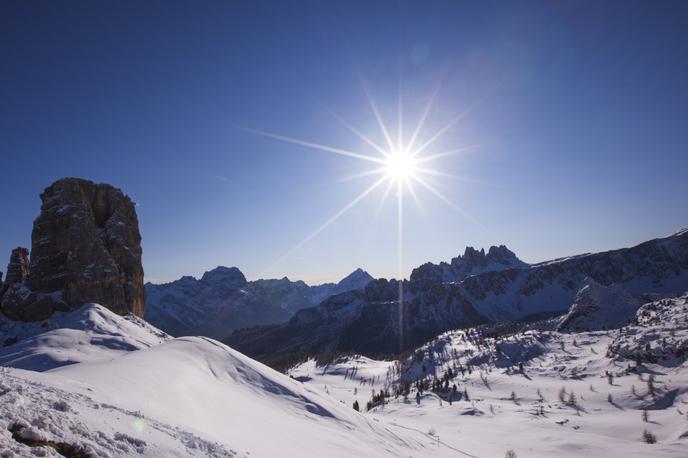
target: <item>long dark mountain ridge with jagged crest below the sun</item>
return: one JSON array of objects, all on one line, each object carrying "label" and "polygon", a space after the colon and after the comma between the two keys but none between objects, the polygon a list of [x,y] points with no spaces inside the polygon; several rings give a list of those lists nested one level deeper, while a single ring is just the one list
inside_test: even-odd
[{"label": "long dark mountain ridge with jagged crest below the sun", "polygon": [[[495,270],[481,270],[489,266]],[[416,269],[403,284],[401,308],[398,283],[376,280],[363,291],[300,310],[287,323],[237,331],[226,342],[275,365],[322,352],[394,354],[458,327],[563,314],[588,277],[633,294],[688,290],[688,230],[536,265],[522,263],[506,247],[488,254],[467,249],[451,264]]]}]

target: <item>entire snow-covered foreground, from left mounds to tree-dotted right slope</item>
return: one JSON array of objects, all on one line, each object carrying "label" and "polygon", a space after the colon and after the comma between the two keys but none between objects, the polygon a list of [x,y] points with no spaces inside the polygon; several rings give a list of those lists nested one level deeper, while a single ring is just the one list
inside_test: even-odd
[{"label": "entire snow-covered foreground, from left mounds to tree-dotted right slope", "polygon": [[687,319],[661,299],[621,329],[486,325],[284,375],[89,304],[2,323],[0,457],[683,457]]}]

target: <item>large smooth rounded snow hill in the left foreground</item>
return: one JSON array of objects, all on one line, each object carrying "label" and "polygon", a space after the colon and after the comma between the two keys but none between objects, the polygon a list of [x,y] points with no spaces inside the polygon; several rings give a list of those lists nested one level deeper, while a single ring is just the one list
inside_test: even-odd
[{"label": "large smooth rounded snow hill in the left foreground", "polygon": [[19,453],[28,449],[11,439],[13,427],[95,456],[420,456],[432,449],[422,434],[402,435],[203,337],[43,373],[5,369],[0,384],[12,399],[0,407],[0,447]]}]

